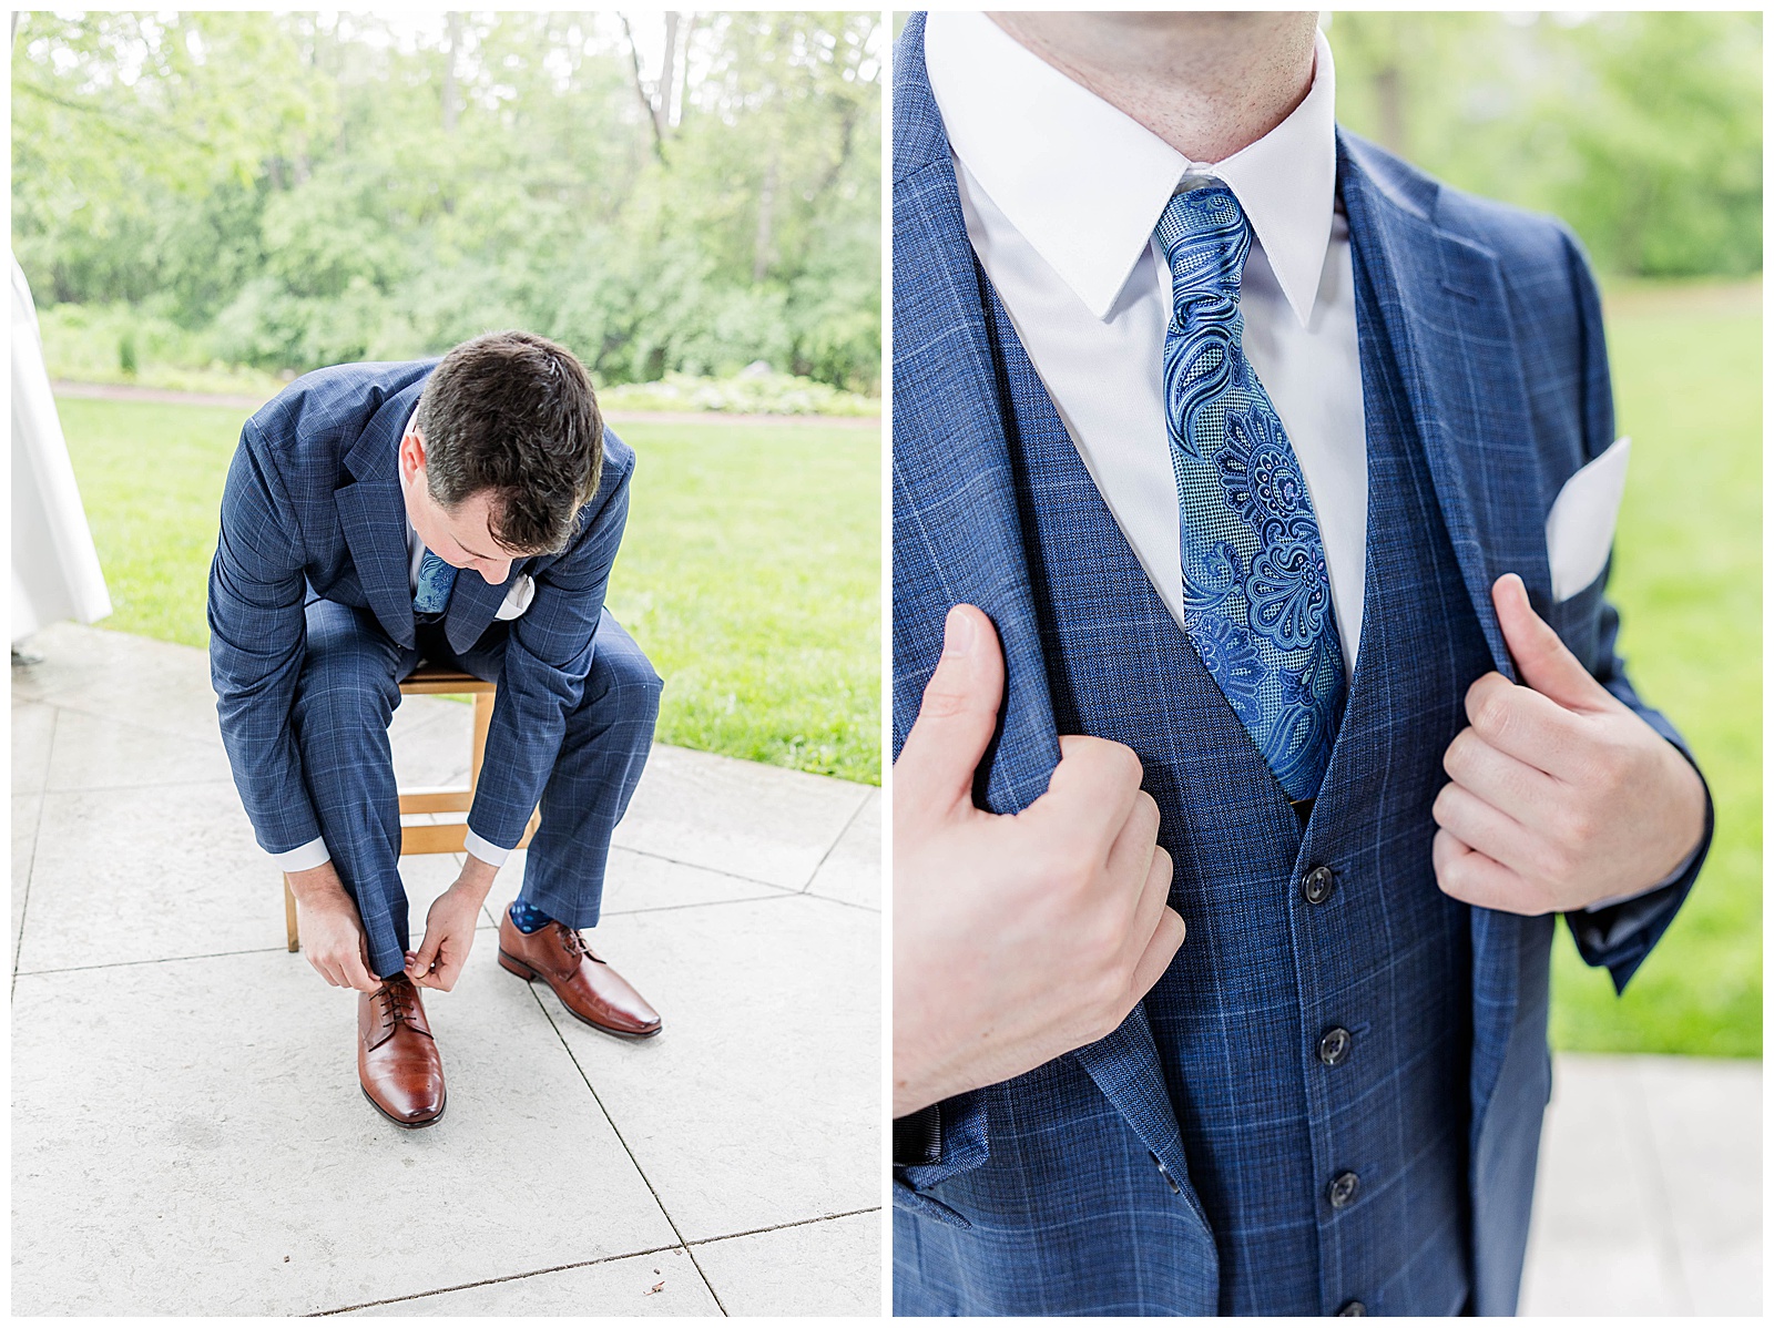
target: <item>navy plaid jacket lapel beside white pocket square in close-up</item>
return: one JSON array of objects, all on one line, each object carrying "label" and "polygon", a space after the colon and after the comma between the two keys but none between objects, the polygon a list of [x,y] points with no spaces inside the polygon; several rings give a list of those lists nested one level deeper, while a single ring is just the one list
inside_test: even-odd
[{"label": "navy plaid jacket lapel beside white pocket square in close-up", "polygon": [[1538,491],[1497,257],[1440,230],[1426,207],[1389,188],[1359,138],[1339,131],[1338,158],[1357,291],[1366,284],[1371,296],[1357,319],[1362,363],[1389,353],[1398,367],[1462,580],[1497,672],[1513,679],[1490,585],[1513,571],[1536,610],[1552,603],[1550,495]]}]

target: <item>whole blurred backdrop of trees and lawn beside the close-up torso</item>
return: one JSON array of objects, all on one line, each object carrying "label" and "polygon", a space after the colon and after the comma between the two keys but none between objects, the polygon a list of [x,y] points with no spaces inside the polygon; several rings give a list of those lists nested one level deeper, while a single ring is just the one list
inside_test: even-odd
[{"label": "whole blurred backdrop of trees and lawn beside the close-up torso", "polygon": [[1760,1057],[1762,14],[1327,18],[1343,126],[1561,216],[1602,277],[1632,436],[1620,649],[1692,745],[1717,832],[1625,996],[1559,929],[1552,1043]]}]

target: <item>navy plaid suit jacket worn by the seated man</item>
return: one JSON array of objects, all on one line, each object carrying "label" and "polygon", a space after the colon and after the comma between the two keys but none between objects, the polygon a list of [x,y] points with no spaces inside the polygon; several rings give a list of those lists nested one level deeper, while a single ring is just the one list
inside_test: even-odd
[{"label": "navy plaid suit jacket worn by the seated man", "polygon": [[[284,853],[318,839],[289,725],[309,599],[376,615],[413,645],[406,507],[397,449],[436,360],[348,363],[298,378],[241,429],[222,493],[209,567],[209,667],[234,782],[259,846]],[[498,706],[468,824],[488,842],[522,839],[591,670],[635,454],[603,433],[598,491],[557,555],[516,559],[504,585],[456,578],[444,629],[458,652],[493,622],[513,580],[536,578],[511,622]]]}]

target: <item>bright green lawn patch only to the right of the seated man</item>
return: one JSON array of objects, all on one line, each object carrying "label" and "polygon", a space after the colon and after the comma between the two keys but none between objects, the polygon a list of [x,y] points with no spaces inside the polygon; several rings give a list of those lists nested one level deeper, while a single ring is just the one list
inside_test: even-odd
[{"label": "bright green lawn patch only to the right of the seated man", "polygon": [[665,679],[660,739],[880,784],[880,433],[624,424],[610,612]]}]

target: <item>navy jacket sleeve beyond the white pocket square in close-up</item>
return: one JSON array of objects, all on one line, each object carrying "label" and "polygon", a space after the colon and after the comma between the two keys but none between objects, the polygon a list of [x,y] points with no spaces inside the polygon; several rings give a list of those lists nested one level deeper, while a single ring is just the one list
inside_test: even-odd
[{"label": "navy jacket sleeve beyond the white pocket square in close-up", "polygon": [[[1590,275],[1590,264],[1582,255],[1582,246],[1568,230],[1565,232],[1565,252],[1570,261],[1572,287],[1582,319],[1582,369],[1584,369],[1584,434],[1588,454],[1598,456],[1614,440],[1614,399],[1607,369],[1607,342],[1602,332],[1602,301]],[[1605,686],[1623,706],[1632,709],[1641,720],[1666,738],[1699,773],[1694,754],[1687,748],[1682,734],[1659,711],[1646,706],[1627,677],[1625,660],[1616,651],[1620,637],[1620,613],[1605,599],[1600,605],[1600,633],[1597,665],[1591,668],[1595,679]],[[1707,777],[1701,773],[1701,784]],[[1595,968],[1607,968],[1614,979],[1614,989],[1625,991],[1627,982],[1639,965],[1662,938],[1675,920],[1676,911],[1694,888],[1699,869],[1707,862],[1712,848],[1712,789],[1707,789],[1707,828],[1701,833],[1699,849],[1687,869],[1669,885],[1650,894],[1629,899],[1613,908],[1593,913],[1566,913],[1577,952],[1584,963]]]}]

